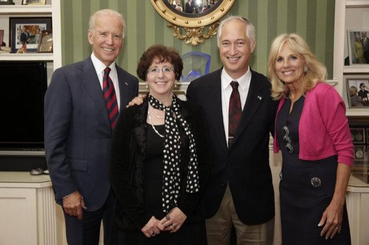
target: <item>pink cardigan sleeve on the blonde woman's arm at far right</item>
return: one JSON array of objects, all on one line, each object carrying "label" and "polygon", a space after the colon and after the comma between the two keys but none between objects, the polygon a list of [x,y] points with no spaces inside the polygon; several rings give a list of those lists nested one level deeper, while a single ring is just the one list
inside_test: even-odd
[{"label": "pink cardigan sleeve on the blonde woman's arm at far right", "polygon": [[[323,86],[321,86],[323,87]],[[331,86],[317,93],[318,107],[327,132],[338,155],[338,162],[352,166],[354,145],[352,144],[346,106],[338,92]]]}]

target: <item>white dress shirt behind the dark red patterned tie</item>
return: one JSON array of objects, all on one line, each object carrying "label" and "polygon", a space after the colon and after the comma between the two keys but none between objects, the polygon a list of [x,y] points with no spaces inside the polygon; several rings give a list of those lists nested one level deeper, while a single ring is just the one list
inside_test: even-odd
[{"label": "white dress shirt behind the dark red patterned tie", "polygon": [[241,99],[241,108],[243,111],[246,98],[249,93],[250,82],[251,82],[250,67],[248,67],[247,72],[238,79],[232,79],[230,75],[228,75],[227,72],[224,70],[224,67],[222,70],[222,74],[221,74],[222,112],[223,112],[224,133],[225,133],[225,139],[227,141],[227,145],[228,145],[228,110],[229,110],[230,98],[231,98],[231,93],[232,93],[232,87],[231,87],[232,81],[238,82],[239,98]]}]

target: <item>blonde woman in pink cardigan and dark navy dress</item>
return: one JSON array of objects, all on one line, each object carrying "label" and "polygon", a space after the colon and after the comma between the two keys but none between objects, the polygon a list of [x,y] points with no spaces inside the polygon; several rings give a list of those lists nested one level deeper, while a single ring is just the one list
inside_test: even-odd
[{"label": "blonde woman in pink cardigan and dark navy dress", "polygon": [[282,244],[351,244],[345,194],[354,161],[346,106],[327,70],[297,34],[270,47],[272,96],[280,100],[274,152],[282,152]]}]

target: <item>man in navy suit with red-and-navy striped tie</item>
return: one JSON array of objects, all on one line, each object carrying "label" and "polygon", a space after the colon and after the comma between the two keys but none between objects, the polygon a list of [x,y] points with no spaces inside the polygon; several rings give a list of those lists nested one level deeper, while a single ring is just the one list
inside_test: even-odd
[{"label": "man in navy suit with red-and-navy striped tie", "polygon": [[[90,18],[86,60],[57,69],[45,95],[45,154],[55,200],[65,214],[68,244],[114,244],[114,195],[108,181],[118,111],[138,95],[138,79],[115,64],[124,19],[113,10]],[[114,233],[114,234],[113,234]]]}]

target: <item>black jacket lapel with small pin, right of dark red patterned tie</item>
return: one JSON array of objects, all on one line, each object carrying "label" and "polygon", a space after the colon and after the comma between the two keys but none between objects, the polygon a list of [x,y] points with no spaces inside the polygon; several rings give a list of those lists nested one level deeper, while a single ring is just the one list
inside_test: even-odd
[{"label": "black jacket lapel with small pin, right of dark red patterned tie", "polygon": [[[251,70],[252,72],[252,70]],[[251,82],[249,92],[247,94],[244,110],[242,111],[241,122],[238,125],[236,135],[234,138],[234,142],[237,141],[239,135],[241,135],[242,131],[249,124],[251,118],[254,116],[255,112],[258,110],[259,106],[263,102],[265,98],[263,98],[262,90],[264,89],[258,81],[255,79],[255,75],[252,72]]]}]

